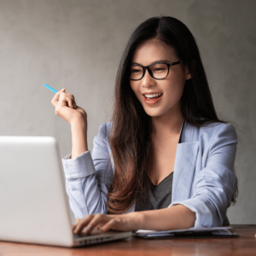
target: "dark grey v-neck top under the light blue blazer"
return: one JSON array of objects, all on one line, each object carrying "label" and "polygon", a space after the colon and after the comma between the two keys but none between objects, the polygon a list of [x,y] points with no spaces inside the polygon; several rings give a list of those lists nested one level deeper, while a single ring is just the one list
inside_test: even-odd
[{"label": "dark grey v-neck top under the light blue blazer", "polygon": [[[181,143],[182,132],[183,125],[179,134],[178,143]],[[163,209],[168,207],[172,203],[172,180],[173,172],[171,172],[156,186],[154,186],[149,179],[150,187],[148,190],[148,195],[143,199],[143,201],[136,203],[135,212]]]}]

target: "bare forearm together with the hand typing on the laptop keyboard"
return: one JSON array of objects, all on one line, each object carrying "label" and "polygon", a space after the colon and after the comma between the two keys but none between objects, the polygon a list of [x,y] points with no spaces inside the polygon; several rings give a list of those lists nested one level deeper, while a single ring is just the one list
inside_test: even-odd
[{"label": "bare forearm together with the hand typing on the laptop keyboard", "polygon": [[160,210],[130,212],[126,214],[89,214],[77,220],[75,234],[86,227],[86,234],[99,227],[104,231],[183,230],[195,225],[195,212],[182,205]]}]

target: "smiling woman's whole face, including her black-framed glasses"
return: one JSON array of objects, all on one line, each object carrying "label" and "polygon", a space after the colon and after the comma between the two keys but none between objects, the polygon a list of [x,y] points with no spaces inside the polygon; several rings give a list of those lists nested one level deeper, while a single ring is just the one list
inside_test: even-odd
[{"label": "smiling woman's whole face, including her black-framed glasses", "polygon": [[[160,61],[164,58],[165,61]],[[130,79],[137,76],[133,74],[137,71],[135,67],[143,67],[135,63],[153,63],[148,66],[147,73],[139,72],[142,73],[140,78],[131,79],[130,82],[131,89],[142,103],[145,112],[151,117],[160,116],[171,110],[174,104],[179,104],[185,81],[191,79],[188,67],[175,66],[182,63],[177,60],[175,50],[157,38],[146,41],[133,55]],[[147,106],[152,106],[156,102],[159,104],[154,105],[154,108]]]}]

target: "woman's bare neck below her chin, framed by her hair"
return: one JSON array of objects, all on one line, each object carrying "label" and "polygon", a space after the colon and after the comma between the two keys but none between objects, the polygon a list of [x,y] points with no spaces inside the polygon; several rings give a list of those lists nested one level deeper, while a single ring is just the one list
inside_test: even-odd
[{"label": "woman's bare neck below her chin, framed by her hair", "polygon": [[183,115],[180,106],[158,117],[152,117],[151,122],[152,135],[154,137],[166,137],[179,133],[183,124]]}]

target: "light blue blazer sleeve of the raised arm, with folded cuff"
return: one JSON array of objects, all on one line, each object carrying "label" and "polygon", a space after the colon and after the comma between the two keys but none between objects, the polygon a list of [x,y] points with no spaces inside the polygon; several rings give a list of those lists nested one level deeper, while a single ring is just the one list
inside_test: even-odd
[{"label": "light blue blazer sleeve of the raised arm, with folded cuff", "polygon": [[71,154],[68,154],[62,159],[67,195],[75,218],[108,212],[106,185],[113,182],[113,170],[106,123],[99,130],[94,137],[92,154],[86,151],[76,158],[70,159]]}]

